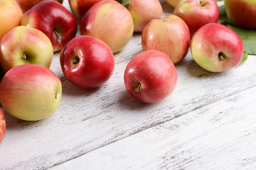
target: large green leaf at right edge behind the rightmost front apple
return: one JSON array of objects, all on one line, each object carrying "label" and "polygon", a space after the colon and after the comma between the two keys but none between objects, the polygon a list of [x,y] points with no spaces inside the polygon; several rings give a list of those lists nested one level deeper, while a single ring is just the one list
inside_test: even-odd
[{"label": "large green leaf at right edge behind the rightmost front apple", "polygon": [[248,54],[256,55],[256,30],[245,30],[228,24],[236,34],[239,35],[244,44],[244,51]]}]

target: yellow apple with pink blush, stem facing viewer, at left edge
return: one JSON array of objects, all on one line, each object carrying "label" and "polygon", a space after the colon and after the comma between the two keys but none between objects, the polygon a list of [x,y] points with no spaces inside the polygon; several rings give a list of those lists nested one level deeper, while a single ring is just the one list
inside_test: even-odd
[{"label": "yellow apple with pink blush, stem facing viewer, at left edge", "polygon": [[52,43],[38,29],[17,26],[0,41],[0,63],[4,73],[17,65],[29,63],[49,68],[52,59]]}]

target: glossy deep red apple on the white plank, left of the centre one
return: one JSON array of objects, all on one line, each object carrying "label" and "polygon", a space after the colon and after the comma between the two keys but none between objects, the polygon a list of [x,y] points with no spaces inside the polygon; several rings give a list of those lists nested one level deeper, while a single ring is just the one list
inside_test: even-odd
[{"label": "glossy deep red apple on the white plank, left of the centre one", "polygon": [[105,42],[92,36],[78,36],[61,50],[60,62],[67,79],[81,88],[97,88],[110,79],[114,56]]}]

